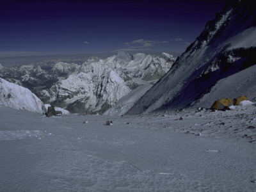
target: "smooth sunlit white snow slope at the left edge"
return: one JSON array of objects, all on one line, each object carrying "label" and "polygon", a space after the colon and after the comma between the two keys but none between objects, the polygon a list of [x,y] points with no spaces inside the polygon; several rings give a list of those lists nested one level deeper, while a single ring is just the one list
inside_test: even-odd
[{"label": "smooth sunlit white snow slope at the left edge", "polygon": [[0,104],[13,109],[45,113],[43,102],[27,88],[0,78]]}]

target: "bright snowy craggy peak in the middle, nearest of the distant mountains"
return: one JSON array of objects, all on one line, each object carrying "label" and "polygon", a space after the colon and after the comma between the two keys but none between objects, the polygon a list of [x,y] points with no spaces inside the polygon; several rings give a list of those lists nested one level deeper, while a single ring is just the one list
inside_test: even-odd
[{"label": "bright snowy craggy peak in the middle, nearest of the distant mountains", "polygon": [[103,113],[131,90],[111,68],[86,65],[60,79],[41,97],[71,113]]}]

